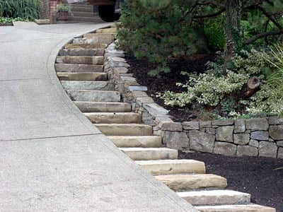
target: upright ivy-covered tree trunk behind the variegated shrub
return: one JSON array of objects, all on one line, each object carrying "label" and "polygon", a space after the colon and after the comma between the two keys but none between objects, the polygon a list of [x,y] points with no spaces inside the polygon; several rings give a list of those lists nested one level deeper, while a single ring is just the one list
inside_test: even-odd
[{"label": "upright ivy-covered tree trunk behind the variegated shrub", "polygon": [[231,68],[233,52],[242,45],[241,35],[241,0],[226,0],[225,57],[224,73]]}]

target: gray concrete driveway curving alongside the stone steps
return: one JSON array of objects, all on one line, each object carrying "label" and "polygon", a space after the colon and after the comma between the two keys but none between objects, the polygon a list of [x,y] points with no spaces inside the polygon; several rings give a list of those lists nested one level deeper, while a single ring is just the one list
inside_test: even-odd
[{"label": "gray concrete driveway curving alongside the stone steps", "polygon": [[73,105],[59,49],[102,24],[0,27],[0,211],[195,211]]}]

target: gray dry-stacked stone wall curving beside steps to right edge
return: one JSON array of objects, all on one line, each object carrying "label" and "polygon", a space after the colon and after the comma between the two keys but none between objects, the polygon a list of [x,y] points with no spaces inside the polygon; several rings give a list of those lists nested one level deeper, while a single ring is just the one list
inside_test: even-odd
[{"label": "gray dry-stacked stone wall curving beside steps to right edge", "polygon": [[283,118],[214,120],[209,122],[173,122],[168,111],[146,95],[132,73],[124,54],[112,44],[105,51],[105,71],[115,82],[122,100],[132,104],[145,124],[163,144],[179,150],[283,158]]}]

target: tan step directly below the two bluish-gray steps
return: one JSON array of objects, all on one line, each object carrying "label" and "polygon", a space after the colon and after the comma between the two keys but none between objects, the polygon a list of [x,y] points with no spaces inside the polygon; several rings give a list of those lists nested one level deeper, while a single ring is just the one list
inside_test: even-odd
[{"label": "tan step directly below the two bluish-gray steps", "polygon": [[81,112],[130,112],[131,105],[124,102],[74,102]]}]

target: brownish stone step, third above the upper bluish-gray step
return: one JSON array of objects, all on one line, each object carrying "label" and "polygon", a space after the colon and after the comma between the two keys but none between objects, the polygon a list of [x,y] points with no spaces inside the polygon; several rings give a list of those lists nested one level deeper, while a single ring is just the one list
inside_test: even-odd
[{"label": "brownish stone step, third above the upper bluish-gray step", "polygon": [[87,64],[103,65],[104,57],[102,56],[57,56],[57,64]]}]

